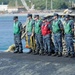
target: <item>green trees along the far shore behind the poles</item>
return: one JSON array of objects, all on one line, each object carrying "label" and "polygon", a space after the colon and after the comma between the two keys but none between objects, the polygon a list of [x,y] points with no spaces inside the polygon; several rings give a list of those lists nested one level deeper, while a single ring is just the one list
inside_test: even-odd
[{"label": "green trees along the far shore behind the poles", "polygon": [[[2,4],[3,2],[4,4],[8,4],[9,7],[14,7],[15,1],[16,0],[0,0],[0,4]],[[18,1],[18,5],[22,6],[21,0],[17,0],[17,1]],[[35,5],[35,9],[38,10],[46,9],[46,0],[26,0],[27,5],[29,7],[31,7],[30,1]],[[71,7],[72,1],[73,3],[75,2],[75,0],[52,0],[53,9],[64,9],[64,8]],[[51,0],[47,0],[47,9],[51,9]]]}]

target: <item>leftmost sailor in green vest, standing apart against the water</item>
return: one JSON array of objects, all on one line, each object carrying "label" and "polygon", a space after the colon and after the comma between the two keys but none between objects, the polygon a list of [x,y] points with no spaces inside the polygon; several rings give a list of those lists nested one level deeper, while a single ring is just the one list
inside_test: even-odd
[{"label": "leftmost sailor in green vest, standing apart against the water", "polygon": [[14,16],[14,42],[15,42],[15,52],[14,53],[23,53],[22,42],[21,42],[21,30],[22,24],[18,21],[18,16]]}]

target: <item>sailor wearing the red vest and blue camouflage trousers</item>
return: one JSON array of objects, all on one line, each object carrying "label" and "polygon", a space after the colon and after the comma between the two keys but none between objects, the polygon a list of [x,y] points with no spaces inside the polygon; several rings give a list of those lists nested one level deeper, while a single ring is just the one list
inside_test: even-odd
[{"label": "sailor wearing the red vest and blue camouflage trousers", "polygon": [[51,25],[50,22],[47,21],[46,17],[44,17],[42,20],[43,23],[41,26],[41,31],[43,35],[44,53],[51,56]]}]

